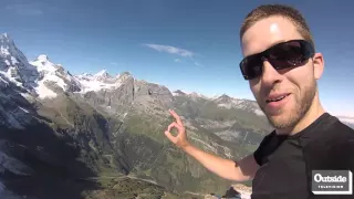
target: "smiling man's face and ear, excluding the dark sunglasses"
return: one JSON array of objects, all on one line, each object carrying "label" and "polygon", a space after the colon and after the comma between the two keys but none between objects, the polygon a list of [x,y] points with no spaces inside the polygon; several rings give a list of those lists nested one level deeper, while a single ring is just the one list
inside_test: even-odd
[{"label": "smiling man's face and ear, excluding the dark sunglasses", "polygon": [[[243,55],[256,54],[275,43],[296,39],[303,38],[290,20],[271,17],[257,22],[244,33]],[[310,59],[305,65],[278,71],[264,61],[262,75],[249,81],[260,108],[277,129],[294,127],[311,107],[316,96],[316,78],[322,74],[323,64],[316,62],[319,56],[321,54],[316,54],[314,60]],[[268,102],[272,96],[284,94],[287,97],[279,102]]]}]

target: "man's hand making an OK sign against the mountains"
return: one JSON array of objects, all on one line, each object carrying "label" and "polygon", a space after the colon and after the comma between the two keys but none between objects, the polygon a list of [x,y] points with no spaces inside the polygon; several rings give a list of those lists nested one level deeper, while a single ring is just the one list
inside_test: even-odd
[{"label": "man's hand making an OK sign against the mountains", "polygon": [[[186,128],[175,111],[169,109],[168,112],[170,113],[170,115],[175,117],[176,122],[173,122],[170,125],[168,125],[168,128],[165,132],[165,135],[170,142],[177,145],[177,147],[185,148],[186,146],[189,145],[189,143],[187,142]],[[173,127],[177,128],[177,132],[178,132],[177,136],[173,136],[170,134],[170,129]]]}]

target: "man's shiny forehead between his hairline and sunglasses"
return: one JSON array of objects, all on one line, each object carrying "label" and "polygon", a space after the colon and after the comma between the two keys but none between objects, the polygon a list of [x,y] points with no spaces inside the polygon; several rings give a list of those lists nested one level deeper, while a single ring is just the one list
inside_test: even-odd
[{"label": "man's shiny forehead between his hairline and sunglasses", "polygon": [[243,56],[256,54],[289,40],[302,39],[295,25],[282,17],[271,17],[251,25],[242,36]]}]

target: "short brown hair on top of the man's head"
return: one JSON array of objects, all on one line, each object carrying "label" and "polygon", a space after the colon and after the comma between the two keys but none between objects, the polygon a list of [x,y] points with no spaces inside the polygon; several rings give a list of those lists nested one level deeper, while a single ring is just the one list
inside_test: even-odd
[{"label": "short brown hair on top of the man's head", "polygon": [[240,30],[240,39],[242,39],[244,32],[256,22],[273,15],[284,17],[291,20],[298,28],[299,33],[314,46],[310,28],[301,12],[293,7],[285,4],[263,4],[253,9],[243,20]]}]

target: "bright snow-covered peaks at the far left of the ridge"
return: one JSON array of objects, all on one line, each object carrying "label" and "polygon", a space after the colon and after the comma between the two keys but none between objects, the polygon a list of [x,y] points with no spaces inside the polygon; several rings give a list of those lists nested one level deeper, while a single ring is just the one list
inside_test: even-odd
[{"label": "bright snow-covered peaks at the far left of the ridge", "polygon": [[0,35],[0,86],[14,84],[22,88],[21,94],[42,100],[56,97],[63,92],[84,94],[115,90],[131,76],[127,72],[111,76],[106,71],[74,76],[61,64],[52,63],[45,54],[29,62],[8,34]]}]

